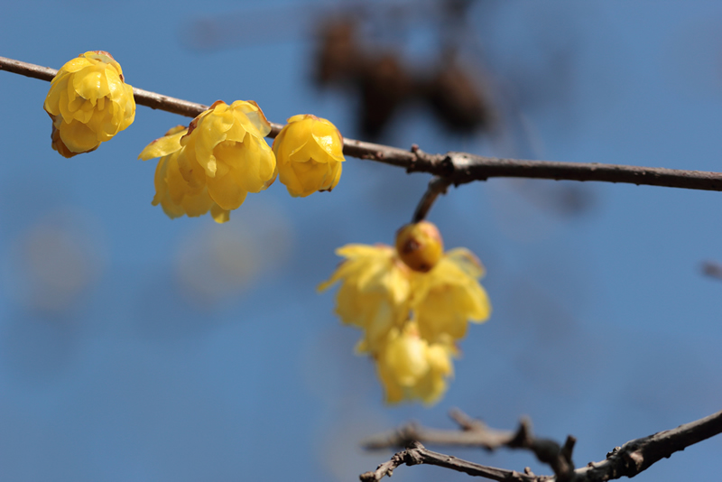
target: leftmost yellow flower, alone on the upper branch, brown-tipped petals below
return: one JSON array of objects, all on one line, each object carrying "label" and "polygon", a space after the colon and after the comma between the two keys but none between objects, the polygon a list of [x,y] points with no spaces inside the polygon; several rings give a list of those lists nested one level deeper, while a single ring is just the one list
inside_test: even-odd
[{"label": "leftmost yellow flower, alone on the upper branch, brown-tipped petals below", "polygon": [[52,148],[64,157],[95,151],[133,124],[133,88],[106,51],[87,51],[63,65],[43,106],[52,118]]}]

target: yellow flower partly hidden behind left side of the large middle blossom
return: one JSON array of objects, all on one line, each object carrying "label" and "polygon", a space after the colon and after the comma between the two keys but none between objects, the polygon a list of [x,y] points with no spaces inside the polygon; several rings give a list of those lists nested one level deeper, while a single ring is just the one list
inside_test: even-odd
[{"label": "yellow flower partly hidden behind left side of the large middle blossom", "polygon": [[228,211],[221,209],[208,196],[205,185],[191,186],[183,179],[178,167],[178,157],[183,147],[180,138],[188,133],[183,125],[173,127],[165,136],[148,144],[138,159],[147,161],[160,157],[155,169],[155,196],[153,206],[161,205],[169,218],[179,218],[184,214],[189,217],[201,216],[210,209],[213,218],[219,222],[228,220]]}]

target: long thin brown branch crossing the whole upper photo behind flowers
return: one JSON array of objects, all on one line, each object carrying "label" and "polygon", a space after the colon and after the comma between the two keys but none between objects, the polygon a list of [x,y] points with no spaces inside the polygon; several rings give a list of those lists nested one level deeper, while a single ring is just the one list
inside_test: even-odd
[{"label": "long thin brown branch crossing the whole upper photo behind flowers", "polygon": [[[50,81],[57,70],[20,60],[0,57],[0,70]],[[135,102],[141,106],[166,110],[181,116],[194,117],[208,108],[179,98],[162,96],[141,88],[134,88]],[[282,125],[273,124],[269,137],[275,137]],[[445,178],[449,184],[459,185],[489,178],[533,178],[570,181],[606,181],[664,186],[691,190],[722,190],[722,173],[684,171],[678,169],[647,168],[596,162],[551,162],[501,159],[470,153],[428,154],[420,150],[406,151],[397,147],[372,144],[354,139],[344,140],[344,153],[403,167],[408,172],[429,172]]]}]

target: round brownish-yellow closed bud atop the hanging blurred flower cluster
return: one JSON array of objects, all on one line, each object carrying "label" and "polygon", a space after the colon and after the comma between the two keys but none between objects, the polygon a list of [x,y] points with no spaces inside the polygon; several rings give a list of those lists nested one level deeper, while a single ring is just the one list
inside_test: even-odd
[{"label": "round brownish-yellow closed bud atop the hanging blurred flower cluster", "polygon": [[427,273],[441,259],[444,243],[429,221],[407,224],[396,233],[396,251],[412,270]]}]

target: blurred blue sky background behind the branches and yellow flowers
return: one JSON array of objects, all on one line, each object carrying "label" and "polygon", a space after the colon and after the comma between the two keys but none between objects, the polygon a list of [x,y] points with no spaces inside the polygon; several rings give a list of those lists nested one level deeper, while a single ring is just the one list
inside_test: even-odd
[{"label": "blurred blue sky background behind the branches and yellow flowers", "polygon": [[[0,17],[2,56],[58,69],[106,50],[134,87],[254,99],[275,122],[314,113],[428,152],[722,166],[718,2],[5,0]],[[722,408],[722,282],[702,269],[722,261],[719,193],[449,190],[430,220],[486,264],[495,311],[469,329],[440,403],[388,407],[315,286],[334,248],[390,243],[428,176],[349,158],[331,194],[276,183],[227,225],[171,221],[151,206],[155,162],[136,157],[189,119],[138,107],[67,160],[51,150],[48,88],[0,72],[3,480],[354,480],[391,454],[360,440],[410,419],[452,428],[454,406],[574,434],[581,466]],[[713,477],[720,450],[704,441],[638,479]],[[549,472],[528,453],[453,453]]]}]

